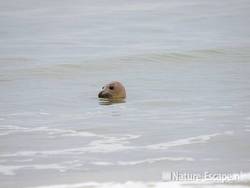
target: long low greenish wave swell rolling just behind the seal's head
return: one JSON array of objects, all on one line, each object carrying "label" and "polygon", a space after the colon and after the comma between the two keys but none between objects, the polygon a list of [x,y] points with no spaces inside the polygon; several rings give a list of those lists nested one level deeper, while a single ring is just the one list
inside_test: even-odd
[{"label": "long low greenish wave swell rolling just behind the seal's head", "polygon": [[[18,76],[35,76],[47,78],[61,78],[71,77],[72,74],[81,75],[83,72],[105,72],[111,70],[134,70],[138,66],[147,65],[164,65],[169,63],[187,63],[192,61],[205,60],[210,57],[223,57],[237,59],[248,57],[250,54],[249,47],[239,48],[210,48],[210,49],[198,49],[198,50],[186,50],[186,51],[156,51],[147,52],[132,55],[110,56],[110,57],[95,57],[91,59],[77,58],[72,61],[62,61],[63,63],[50,63],[41,66],[35,66],[31,68],[17,67],[12,72],[5,71],[4,78]],[[158,66],[157,66],[158,67]],[[27,74],[29,73],[29,74]],[[7,76],[7,77],[6,77]]]}]

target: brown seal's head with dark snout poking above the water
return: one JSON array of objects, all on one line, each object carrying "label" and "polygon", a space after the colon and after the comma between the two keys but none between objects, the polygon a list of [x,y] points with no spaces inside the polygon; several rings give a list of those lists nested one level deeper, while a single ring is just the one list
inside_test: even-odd
[{"label": "brown seal's head with dark snout poking above the water", "polygon": [[98,94],[98,97],[105,99],[125,99],[126,90],[121,82],[112,81],[102,87],[102,91]]}]

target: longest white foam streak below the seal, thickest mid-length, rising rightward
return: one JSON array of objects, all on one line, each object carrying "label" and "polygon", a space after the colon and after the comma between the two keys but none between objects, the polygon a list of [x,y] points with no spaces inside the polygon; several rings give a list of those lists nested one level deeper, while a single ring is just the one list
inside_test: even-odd
[{"label": "longest white foam streak below the seal, thickest mid-length, rising rightward", "polygon": [[[46,128],[45,128],[46,129]],[[57,130],[55,130],[57,131]],[[59,130],[61,132],[61,130]],[[91,141],[84,147],[68,148],[61,150],[43,150],[43,151],[19,151],[16,153],[3,153],[0,157],[14,157],[14,156],[48,156],[48,155],[80,155],[83,153],[112,153],[125,150],[166,150],[170,147],[184,146],[190,144],[207,143],[210,139],[221,135],[232,135],[233,131],[225,131],[223,133],[214,133],[208,135],[200,135],[195,137],[188,137],[175,141],[169,141],[158,144],[150,144],[145,146],[132,146],[129,145],[130,141],[139,138],[141,135],[116,135],[116,136],[104,136],[96,135],[93,133],[89,136],[96,136],[100,139]]]}]

